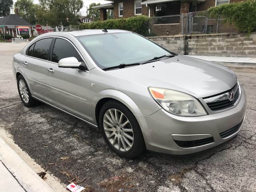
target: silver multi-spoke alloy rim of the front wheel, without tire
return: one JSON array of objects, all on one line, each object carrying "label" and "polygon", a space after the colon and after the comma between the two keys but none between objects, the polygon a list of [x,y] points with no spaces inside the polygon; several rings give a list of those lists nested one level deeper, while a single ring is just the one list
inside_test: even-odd
[{"label": "silver multi-spoke alloy rim of the front wheel, without tire", "polygon": [[103,128],[109,142],[118,150],[126,152],[134,143],[134,133],[129,119],[118,109],[108,109],[103,117]]}]

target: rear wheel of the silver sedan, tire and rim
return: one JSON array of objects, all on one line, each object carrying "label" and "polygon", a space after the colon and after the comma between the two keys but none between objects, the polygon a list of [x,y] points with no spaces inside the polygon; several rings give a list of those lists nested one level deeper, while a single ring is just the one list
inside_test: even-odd
[{"label": "rear wheel of the silver sedan, tire and rim", "polygon": [[28,84],[26,83],[24,77],[19,75],[17,78],[18,92],[20,99],[26,107],[32,107],[38,105],[38,101],[32,98]]}]

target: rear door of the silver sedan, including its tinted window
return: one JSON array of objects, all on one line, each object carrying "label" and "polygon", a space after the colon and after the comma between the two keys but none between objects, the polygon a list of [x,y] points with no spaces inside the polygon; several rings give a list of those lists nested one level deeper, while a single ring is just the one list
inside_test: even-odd
[{"label": "rear door of the silver sedan, including its tinted window", "polygon": [[23,57],[24,72],[33,96],[50,101],[49,88],[46,80],[47,69],[50,68],[49,56],[53,38],[36,41]]}]

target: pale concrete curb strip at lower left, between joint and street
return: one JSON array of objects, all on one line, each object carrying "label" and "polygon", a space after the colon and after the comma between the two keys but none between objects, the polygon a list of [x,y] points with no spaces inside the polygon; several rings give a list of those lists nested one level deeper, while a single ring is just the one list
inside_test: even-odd
[{"label": "pale concrete curb strip at lower left, between joint and street", "polygon": [[27,192],[54,192],[1,137],[0,160]]}]

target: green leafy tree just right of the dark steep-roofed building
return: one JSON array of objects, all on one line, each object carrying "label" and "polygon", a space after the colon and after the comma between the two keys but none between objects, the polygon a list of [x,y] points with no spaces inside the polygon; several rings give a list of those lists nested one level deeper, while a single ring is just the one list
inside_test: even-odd
[{"label": "green leafy tree just right of the dark steep-roofed building", "polygon": [[30,24],[35,24],[35,12],[36,7],[33,4],[33,0],[17,0],[14,4],[15,8],[18,8],[19,15],[21,18],[29,22]]}]

